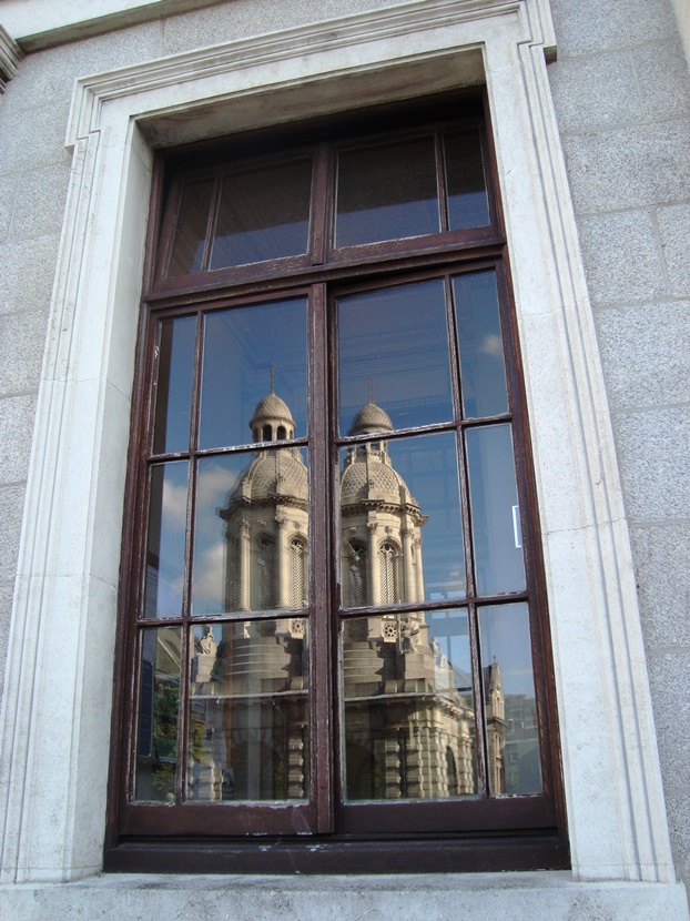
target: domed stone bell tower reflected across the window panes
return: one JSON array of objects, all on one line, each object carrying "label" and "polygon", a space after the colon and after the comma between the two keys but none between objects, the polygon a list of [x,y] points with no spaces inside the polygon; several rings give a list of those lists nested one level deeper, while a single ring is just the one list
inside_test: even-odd
[{"label": "domed stone bell tower reflected across the window panes", "polygon": [[[288,406],[271,392],[250,422],[256,443],[291,438]],[[369,401],[349,435],[393,431]],[[465,611],[390,613],[425,598],[427,518],[395,470],[385,438],[351,446],[339,484],[344,619],[342,694],[346,798],[477,796],[477,729]],[[307,468],[292,446],[257,447],[226,505],[225,603],[270,619],[196,628],[192,657],[187,797],[308,797]],[[434,620],[429,627],[427,620]],[[215,635],[214,635],[215,634]],[[455,659],[455,661],[454,661]],[[505,790],[505,698],[497,662],[485,669],[493,792]]]}]

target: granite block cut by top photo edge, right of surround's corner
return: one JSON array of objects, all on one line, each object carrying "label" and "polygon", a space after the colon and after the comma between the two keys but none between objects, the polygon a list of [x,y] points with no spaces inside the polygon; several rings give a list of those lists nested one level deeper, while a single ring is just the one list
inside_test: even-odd
[{"label": "granite block cut by top photo edge, right of surround's corner", "polygon": [[678,36],[663,0],[551,0],[558,54],[588,54]]}]

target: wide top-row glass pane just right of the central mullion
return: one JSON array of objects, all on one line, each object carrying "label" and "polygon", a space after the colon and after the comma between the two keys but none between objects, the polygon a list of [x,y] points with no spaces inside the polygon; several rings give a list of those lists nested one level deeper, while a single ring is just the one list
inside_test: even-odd
[{"label": "wide top-row glass pane just right of the central mullion", "polygon": [[434,139],[338,154],[336,246],[438,233]]}]

